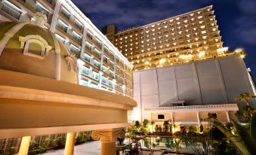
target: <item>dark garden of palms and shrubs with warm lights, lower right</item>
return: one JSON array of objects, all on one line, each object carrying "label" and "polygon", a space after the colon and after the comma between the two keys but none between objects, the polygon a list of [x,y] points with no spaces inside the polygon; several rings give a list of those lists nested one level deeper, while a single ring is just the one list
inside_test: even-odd
[{"label": "dark garden of palms and shrubs with warm lights, lower right", "polygon": [[[156,123],[150,120],[135,121],[125,129],[126,138],[119,139],[116,154],[147,154],[161,151],[162,154],[256,154],[256,112],[249,100],[254,97],[242,93],[237,101],[236,116],[239,121],[221,123],[208,116],[208,132],[204,126],[184,126],[180,131],[170,120]],[[125,141],[125,142],[124,142]]]}]

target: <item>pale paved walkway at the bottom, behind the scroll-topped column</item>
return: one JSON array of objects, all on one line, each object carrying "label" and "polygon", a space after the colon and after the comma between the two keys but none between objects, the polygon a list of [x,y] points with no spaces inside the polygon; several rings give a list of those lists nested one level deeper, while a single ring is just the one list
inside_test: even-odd
[{"label": "pale paved walkway at the bottom, behind the scroll-topped column", "polygon": [[[63,155],[64,149],[48,150],[42,155]],[[100,155],[100,141],[88,141],[75,146],[74,155]]]}]

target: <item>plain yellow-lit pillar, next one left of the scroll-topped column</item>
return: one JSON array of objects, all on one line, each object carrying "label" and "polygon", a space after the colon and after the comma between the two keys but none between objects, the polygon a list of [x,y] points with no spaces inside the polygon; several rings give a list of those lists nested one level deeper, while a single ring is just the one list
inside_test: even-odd
[{"label": "plain yellow-lit pillar, next one left of the scroll-topped column", "polygon": [[69,132],[66,134],[66,144],[65,144],[65,155],[74,154],[76,132]]}]

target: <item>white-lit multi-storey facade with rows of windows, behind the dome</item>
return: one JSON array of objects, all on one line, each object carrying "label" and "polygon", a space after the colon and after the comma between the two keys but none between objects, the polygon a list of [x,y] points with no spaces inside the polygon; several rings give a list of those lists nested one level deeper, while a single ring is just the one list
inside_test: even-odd
[{"label": "white-lit multi-storey facade with rows of windows, behind the dome", "polygon": [[29,22],[44,13],[45,26],[79,59],[79,84],[132,96],[132,65],[70,0],[2,0],[0,21]]}]

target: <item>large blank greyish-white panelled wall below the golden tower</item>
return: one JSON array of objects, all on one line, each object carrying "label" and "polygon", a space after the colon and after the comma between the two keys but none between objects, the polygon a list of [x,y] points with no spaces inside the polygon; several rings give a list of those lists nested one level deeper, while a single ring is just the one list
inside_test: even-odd
[{"label": "large blank greyish-white panelled wall below the golden tower", "polygon": [[[233,103],[240,93],[253,93],[239,56],[205,59],[134,72],[134,99],[141,117],[144,108],[184,101],[185,105]],[[255,100],[252,101],[254,107]]]}]

